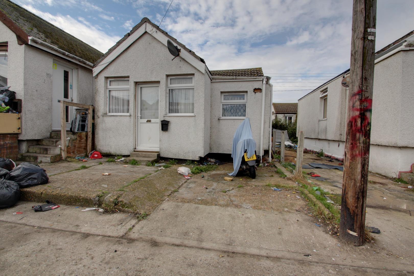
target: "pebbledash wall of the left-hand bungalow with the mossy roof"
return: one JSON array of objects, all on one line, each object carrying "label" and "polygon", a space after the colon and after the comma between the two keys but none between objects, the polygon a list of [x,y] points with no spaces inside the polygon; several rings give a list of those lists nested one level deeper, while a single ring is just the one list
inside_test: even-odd
[{"label": "pebbledash wall of the left-hand bungalow with the mossy roof", "polygon": [[48,138],[52,131],[53,62],[77,69],[77,103],[93,104],[92,70],[33,46],[19,45],[16,35],[4,24],[0,24],[0,41],[8,41],[7,83],[22,99],[22,133],[18,139],[19,153],[24,153],[30,140]]}]

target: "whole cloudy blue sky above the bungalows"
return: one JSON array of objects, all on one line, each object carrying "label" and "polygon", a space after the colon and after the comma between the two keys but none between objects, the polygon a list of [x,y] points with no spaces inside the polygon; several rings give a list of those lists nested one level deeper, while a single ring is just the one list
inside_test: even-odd
[{"label": "whole cloudy blue sky above the bungalows", "polygon": [[[106,52],[171,0],[14,0]],[[414,29],[413,0],[377,0],[379,50]],[[161,29],[210,70],[262,67],[274,102],[296,102],[349,68],[352,0],[173,0]]]}]

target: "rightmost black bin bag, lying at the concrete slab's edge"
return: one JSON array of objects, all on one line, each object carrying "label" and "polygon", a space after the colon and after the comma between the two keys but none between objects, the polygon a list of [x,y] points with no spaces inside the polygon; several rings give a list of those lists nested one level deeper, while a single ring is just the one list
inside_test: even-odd
[{"label": "rightmost black bin bag, lying at the concrete slab's edge", "polygon": [[31,163],[21,163],[9,172],[7,180],[19,184],[20,188],[46,184],[49,182],[46,170]]}]

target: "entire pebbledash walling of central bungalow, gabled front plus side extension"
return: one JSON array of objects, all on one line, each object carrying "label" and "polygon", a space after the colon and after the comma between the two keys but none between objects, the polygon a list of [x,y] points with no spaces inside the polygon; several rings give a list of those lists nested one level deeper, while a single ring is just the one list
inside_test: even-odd
[{"label": "entire pebbledash walling of central bungalow, gabled front plus side extension", "polygon": [[[168,116],[169,75],[194,75],[194,115]],[[129,77],[129,115],[107,115],[106,83],[110,77]],[[233,135],[240,119],[219,119],[221,115],[221,92],[248,91],[247,116],[250,117],[253,137],[260,148],[260,123],[262,79],[255,81],[211,82],[207,72],[200,72],[193,65],[171,55],[164,44],[145,33],[124,53],[106,66],[95,77],[95,142],[103,153],[129,155],[136,146],[136,86],[139,83],[159,83],[159,119],[168,120],[168,131],[160,127],[160,156],[198,160],[212,153],[231,153]],[[263,148],[268,149],[270,89],[266,86],[266,108]]]}]

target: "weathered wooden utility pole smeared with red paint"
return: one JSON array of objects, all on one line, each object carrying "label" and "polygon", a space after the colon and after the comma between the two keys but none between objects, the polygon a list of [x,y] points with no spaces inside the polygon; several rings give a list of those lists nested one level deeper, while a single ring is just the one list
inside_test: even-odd
[{"label": "weathered wooden utility pole smeared with red paint", "polygon": [[351,66],[342,184],[342,240],[363,245],[371,137],[376,0],[354,0]]}]

